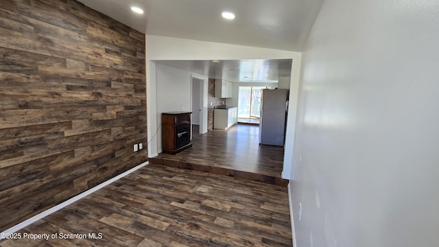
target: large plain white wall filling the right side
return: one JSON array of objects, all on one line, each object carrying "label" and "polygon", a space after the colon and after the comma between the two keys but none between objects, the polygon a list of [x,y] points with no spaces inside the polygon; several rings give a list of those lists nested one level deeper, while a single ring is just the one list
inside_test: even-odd
[{"label": "large plain white wall filling the right side", "polygon": [[438,13],[324,2],[302,60],[296,246],[439,246]]}]

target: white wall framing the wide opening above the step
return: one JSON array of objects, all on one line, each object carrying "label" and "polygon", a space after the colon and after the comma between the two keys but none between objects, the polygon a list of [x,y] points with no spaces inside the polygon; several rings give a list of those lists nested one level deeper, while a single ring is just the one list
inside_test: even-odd
[{"label": "white wall framing the wide opening above the step", "polygon": [[[171,38],[165,36],[146,35],[146,69],[147,69],[147,126],[148,126],[148,155],[158,154],[158,137],[154,133],[158,127],[157,100],[165,95],[157,92],[156,61],[158,60],[239,60],[239,59],[292,59],[291,87],[289,93],[289,120],[285,148],[294,147],[294,128],[296,126],[296,107],[300,63],[302,54],[294,51],[266,49],[261,47],[247,47],[224,43],[189,40],[185,38]],[[208,71],[204,73],[202,84],[202,121],[204,128],[200,132],[207,132],[207,102],[208,102]],[[154,138],[153,138],[154,137]],[[283,178],[289,178],[292,166],[292,152],[285,152]]]}]

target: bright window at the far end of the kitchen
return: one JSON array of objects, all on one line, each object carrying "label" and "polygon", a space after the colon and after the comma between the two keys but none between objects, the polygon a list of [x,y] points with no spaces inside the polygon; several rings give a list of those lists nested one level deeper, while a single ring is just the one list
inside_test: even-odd
[{"label": "bright window at the far end of the kitchen", "polygon": [[261,90],[266,86],[239,86],[238,117],[261,117]]}]

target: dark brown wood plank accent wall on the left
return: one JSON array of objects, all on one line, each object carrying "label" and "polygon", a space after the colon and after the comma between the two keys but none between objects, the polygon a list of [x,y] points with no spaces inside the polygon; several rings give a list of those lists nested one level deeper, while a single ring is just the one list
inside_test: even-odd
[{"label": "dark brown wood plank accent wall on the left", "polygon": [[145,35],[74,0],[0,1],[0,231],[147,161]]}]

